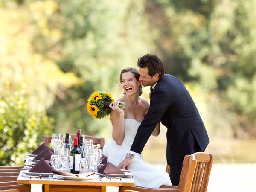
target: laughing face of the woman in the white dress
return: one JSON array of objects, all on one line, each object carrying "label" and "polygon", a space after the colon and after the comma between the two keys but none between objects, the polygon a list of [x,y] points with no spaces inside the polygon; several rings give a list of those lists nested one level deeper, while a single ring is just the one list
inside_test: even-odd
[{"label": "laughing face of the woman in the white dress", "polygon": [[134,77],[131,72],[122,74],[122,87],[127,96],[138,94],[140,82]]}]

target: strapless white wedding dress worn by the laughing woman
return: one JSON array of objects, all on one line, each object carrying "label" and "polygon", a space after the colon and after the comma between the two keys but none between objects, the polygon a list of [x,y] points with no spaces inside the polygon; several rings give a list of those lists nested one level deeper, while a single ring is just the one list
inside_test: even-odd
[{"label": "strapless white wedding dress worn by the laughing woman", "polygon": [[[139,126],[140,122],[134,119],[125,119],[125,138],[120,146],[112,138],[113,127],[111,123],[111,139],[105,143],[103,148],[103,154],[108,157],[109,162],[118,166],[125,158],[126,153],[130,151]],[[163,184],[172,184],[167,172],[144,162],[141,154],[134,156],[129,170],[133,173],[135,186],[159,188]]]}]

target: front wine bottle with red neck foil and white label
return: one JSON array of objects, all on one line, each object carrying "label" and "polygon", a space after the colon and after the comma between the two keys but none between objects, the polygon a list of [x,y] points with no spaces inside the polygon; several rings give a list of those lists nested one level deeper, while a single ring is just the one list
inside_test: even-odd
[{"label": "front wine bottle with red neck foil and white label", "polygon": [[70,169],[71,173],[79,173],[79,164],[81,162],[81,154],[79,149],[77,148],[77,137],[74,138],[74,148],[71,150],[71,156],[72,156],[72,169]]}]

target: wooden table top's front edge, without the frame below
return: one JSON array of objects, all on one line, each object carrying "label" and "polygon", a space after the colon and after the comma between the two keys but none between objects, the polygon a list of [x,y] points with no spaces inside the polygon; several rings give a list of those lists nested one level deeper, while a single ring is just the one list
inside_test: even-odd
[{"label": "wooden table top's front edge, without the frame below", "polygon": [[107,179],[107,178],[94,178],[93,180],[56,180],[48,179],[46,177],[22,177],[20,173],[17,178],[18,184],[47,184],[47,185],[80,185],[80,186],[134,186],[132,178],[123,179]]}]

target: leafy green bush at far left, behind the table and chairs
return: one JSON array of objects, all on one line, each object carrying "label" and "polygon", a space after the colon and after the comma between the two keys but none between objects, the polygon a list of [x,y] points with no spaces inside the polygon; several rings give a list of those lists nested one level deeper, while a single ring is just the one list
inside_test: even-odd
[{"label": "leafy green bush at far left, behind the table and chairs", "polygon": [[0,165],[21,165],[51,134],[53,119],[42,111],[31,111],[24,90],[0,97]]}]

